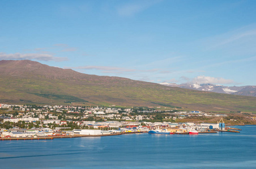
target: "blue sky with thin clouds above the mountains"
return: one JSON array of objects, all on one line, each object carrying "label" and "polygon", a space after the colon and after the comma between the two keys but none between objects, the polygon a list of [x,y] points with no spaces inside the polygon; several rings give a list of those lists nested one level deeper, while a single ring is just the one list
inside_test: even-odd
[{"label": "blue sky with thin clouds above the mountains", "polygon": [[0,0],[0,60],[154,83],[256,85],[256,1]]}]

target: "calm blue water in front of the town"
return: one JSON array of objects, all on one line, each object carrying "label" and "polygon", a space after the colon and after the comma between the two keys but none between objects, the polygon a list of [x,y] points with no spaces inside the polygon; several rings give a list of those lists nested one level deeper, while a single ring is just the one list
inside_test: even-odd
[{"label": "calm blue water in front of the town", "polygon": [[256,126],[240,134],[130,134],[0,141],[0,168],[256,168]]}]

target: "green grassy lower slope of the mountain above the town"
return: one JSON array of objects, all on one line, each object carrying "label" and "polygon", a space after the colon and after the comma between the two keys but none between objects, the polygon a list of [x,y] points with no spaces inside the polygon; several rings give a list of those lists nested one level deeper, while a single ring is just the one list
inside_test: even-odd
[{"label": "green grassy lower slope of the mountain above the town", "polygon": [[[155,83],[87,79],[8,77],[0,79],[0,102],[121,106],[181,106],[195,110],[256,112],[256,97],[216,94],[161,86]],[[87,101],[89,103],[87,103]]]}]

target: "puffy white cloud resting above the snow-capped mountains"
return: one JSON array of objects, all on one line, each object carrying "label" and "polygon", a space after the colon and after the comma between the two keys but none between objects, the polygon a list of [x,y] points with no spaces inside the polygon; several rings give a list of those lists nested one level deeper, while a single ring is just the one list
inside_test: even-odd
[{"label": "puffy white cloud resting above the snow-capped mountains", "polygon": [[224,78],[215,78],[215,77],[207,77],[204,75],[199,75],[198,77],[195,77],[192,81],[192,83],[211,83],[211,84],[230,84],[234,83],[231,79],[224,79]]}]

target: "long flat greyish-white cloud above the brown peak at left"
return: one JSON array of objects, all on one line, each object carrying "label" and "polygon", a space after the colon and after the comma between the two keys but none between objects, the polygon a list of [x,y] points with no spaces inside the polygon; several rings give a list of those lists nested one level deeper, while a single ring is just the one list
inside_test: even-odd
[{"label": "long flat greyish-white cloud above the brown peak at left", "polygon": [[50,54],[6,54],[3,52],[0,52],[0,59],[1,60],[41,60],[41,61],[65,61],[67,60],[66,57],[55,57]]}]

